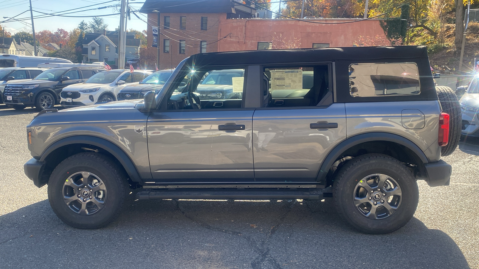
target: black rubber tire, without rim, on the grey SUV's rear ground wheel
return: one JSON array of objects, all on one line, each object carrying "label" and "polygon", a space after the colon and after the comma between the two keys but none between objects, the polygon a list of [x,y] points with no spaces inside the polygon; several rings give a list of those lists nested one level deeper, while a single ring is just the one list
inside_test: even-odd
[{"label": "black rubber tire, without rim, on the grey SUV's rear ground wheel", "polygon": [[[398,183],[402,192],[397,210],[382,219],[370,219],[354,205],[358,183],[373,174],[388,175]],[[419,202],[419,190],[411,170],[399,160],[384,154],[365,154],[340,168],[333,184],[333,200],[338,213],[358,231],[388,234],[411,220]]]}]

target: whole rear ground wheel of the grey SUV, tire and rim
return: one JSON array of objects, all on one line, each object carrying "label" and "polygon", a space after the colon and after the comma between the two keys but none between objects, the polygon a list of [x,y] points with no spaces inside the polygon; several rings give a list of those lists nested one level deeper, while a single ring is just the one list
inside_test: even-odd
[{"label": "whole rear ground wheel of the grey SUV, tire and rim", "polygon": [[360,232],[388,234],[411,220],[419,202],[416,180],[399,160],[365,154],[348,161],[333,184],[338,213]]}]

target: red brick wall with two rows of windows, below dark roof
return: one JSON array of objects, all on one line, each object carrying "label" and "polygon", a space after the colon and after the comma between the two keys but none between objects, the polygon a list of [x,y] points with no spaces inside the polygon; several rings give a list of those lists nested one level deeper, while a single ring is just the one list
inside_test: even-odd
[{"label": "red brick wall with two rows of windows, below dark roof", "polygon": [[[186,57],[200,53],[200,42],[206,41],[206,52],[217,51],[219,15],[215,13],[161,13],[160,14],[160,67],[159,69],[176,67]],[[164,29],[164,16],[170,16],[170,29]],[[180,17],[186,17],[186,30],[180,30]],[[207,30],[201,30],[201,17],[208,17]],[[147,40],[148,46],[153,44],[151,25],[158,25],[157,13],[148,13]],[[170,52],[163,52],[163,39],[170,39]],[[180,54],[179,40],[185,40],[185,54]],[[157,59],[148,59],[156,63]]]}]

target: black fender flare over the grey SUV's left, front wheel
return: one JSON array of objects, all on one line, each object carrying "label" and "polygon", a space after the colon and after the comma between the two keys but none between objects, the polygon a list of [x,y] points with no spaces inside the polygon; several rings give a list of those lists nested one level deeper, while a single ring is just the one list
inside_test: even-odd
[{"label": "black fender flare over the grey SUV's left, front wheel", "polygon": [[128,174],[129,178],[132,181],[135,182],[140,182],[140,174],[138,173],[138,170],[133,163],[133,161],[128,157],[128,155],[118,146],[113,144],[112,142],[100,138],[97,136],[90,136],[90,135],[75,135],[75,136],[70,136],[66,138],[62,138],[52,145],[48,146],[40,156],[39,161],[43,162],[45,161],[46,157],[50,153],[52,153],[54,150],[56,150],[59,147],[62,146],[67,146],[71,144],[89,144],[92,146],[97,146],[107,152],[109,152],[111,155],[113,155],[115,158],[118,159],[118,161],[121,163],[123,168],[125,168],[126,173]]}]

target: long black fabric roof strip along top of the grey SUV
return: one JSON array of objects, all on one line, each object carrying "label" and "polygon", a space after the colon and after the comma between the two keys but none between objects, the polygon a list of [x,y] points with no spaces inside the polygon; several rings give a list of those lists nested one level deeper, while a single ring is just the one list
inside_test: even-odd
[{"label": "long black fabric roof strip along top of the grey SUV", "polygon": [[200,53],[186,62],[204,65],[264,65],[288,62],[322,62],[333,60],[379,60],[426,58],[426,46],[377,46],[339,48],[299,48]]}]

